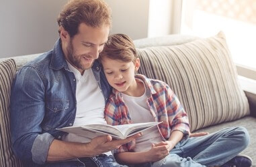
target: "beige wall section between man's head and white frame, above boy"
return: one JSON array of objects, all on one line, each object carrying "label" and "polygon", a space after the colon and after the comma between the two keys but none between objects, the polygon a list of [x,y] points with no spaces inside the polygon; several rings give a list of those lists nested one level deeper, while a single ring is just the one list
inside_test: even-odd
[{"label": "beige wall section between man's head and white frame, above boy", "polygon": [[125,33],[132,39],[148,36],[149,0],[105,0],[112,9],[110,33]]}]

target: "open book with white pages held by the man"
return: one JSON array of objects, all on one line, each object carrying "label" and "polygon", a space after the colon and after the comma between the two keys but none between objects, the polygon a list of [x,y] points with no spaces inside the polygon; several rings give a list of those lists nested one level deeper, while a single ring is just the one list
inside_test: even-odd
[{"label": "open book with white pages held by the man", "polygon": [[95,138],[97,136],[110,135],[112,138],[125,139],[129,136],[147,130],[153,126],[161,124],[161,122],[146,122],[139,124],[124,124],[111,126],[108,124],[89,124],[84,126],[69,126],[65,128],[57,128],[63,132],[76,134],[86,138]]}]

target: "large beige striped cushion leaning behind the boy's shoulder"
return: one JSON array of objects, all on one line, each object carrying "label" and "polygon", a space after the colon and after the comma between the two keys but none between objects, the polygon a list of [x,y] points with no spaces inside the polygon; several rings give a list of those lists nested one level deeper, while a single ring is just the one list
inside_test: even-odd
[{"label": "large beige striped cushion leaning behind the boy's shoulder", "polygon": [[223,33],[137,51],[138,73],[169,84],[189,115],[191,131],[249,115]]}]

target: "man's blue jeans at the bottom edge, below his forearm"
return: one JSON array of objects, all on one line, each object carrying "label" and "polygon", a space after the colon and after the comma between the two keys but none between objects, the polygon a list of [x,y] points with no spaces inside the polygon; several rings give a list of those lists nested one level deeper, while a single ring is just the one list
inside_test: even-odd
[{"label": "man's blue jeans at the bottom edge, below his forearm", "polygon": [[77,160],[67,160],[52,162],[43,165],[44,167],[126,167],[118,164],[114,156],[101,154],[92,158],[77,158]]}]

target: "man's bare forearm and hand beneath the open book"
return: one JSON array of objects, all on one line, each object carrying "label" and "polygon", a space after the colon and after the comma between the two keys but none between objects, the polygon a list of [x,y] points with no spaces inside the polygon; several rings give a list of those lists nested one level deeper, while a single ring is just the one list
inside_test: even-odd
[{"label": "man's bare forearm and hand beneath the open book", "polygon": [[48,151],[47,161],[69,160],[79,157],[92,157],[104,152],[108,152],[119,148],[122,144],[126,144],[140,134],[135,134],[124,140],[112,140],[111,136],[99,136],[93,138],[89,143],[63,142],[61,140],[53,140]]}]

